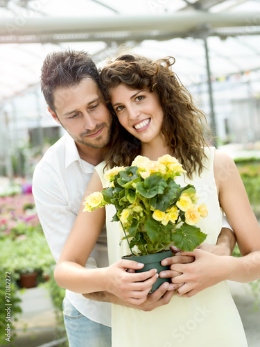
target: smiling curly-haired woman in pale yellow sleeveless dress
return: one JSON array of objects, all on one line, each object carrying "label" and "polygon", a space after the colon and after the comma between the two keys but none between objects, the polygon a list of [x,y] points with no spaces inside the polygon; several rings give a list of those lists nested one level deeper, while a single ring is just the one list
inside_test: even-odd
[{"label": "smiling curly-haired woman in pale yellow sleeveless dress", "polygon": [[[89,183],[91,189],[87,189],[86,196],[108,185],[103,176],[105,165],[127,166],[138,154],[150,160],[157,160],[164,154],[174,155],[187,171],[183,178],[178,178],[177,183],[195,185],[202,201],[208,206],[209,217],[199,224],[202,230],[209,233],[207,242],[216,244],[223,209],[236,233],[243,257],[218,257],[202,250],[187,253],[195,256],[196,262],[189,264],[189,267],[185,267],[187,264],[173,265],[174,271],[183,273],[173,282],[185,282],[178,289],[179,294],[188,293],[192,297],[175,295],[168,305],[151,312],[113,305],[112,346],[245,347],[248,345],[243,325],[225,280],[249,282],[260,277],[259,225],[234,162],[227,155],[207,148],[201,125],[203,114],[196,109],[187,90],[177,81],[171,65],[169,59],[151,62],[144,57],[124,55],[101,71],[105,99],[111,102],[119,123],[113,143],[107,150],[106,164],[101,163],[96,168],[100,179],[97,175],[93,176]],[[148,287],[143,288],[140,282],[135,282],[139,280],[137,273],[125,275],[119,266],[125,249],[119,246],[120,235],[115,231],[116,224],[110,223],[114,214],[112,205],[107,206],[106,210],[107,243],[112,265],[92,273],[82,269],[98,237],[98,228],[103,223],[102,211],[98,209],[87,216],[82,212],[78,214],[55,269],[55,279],[59,285],[69,286],[69,289],[77,289],[78,292],[110,290],[110,285],[105,287],[105,281],[108,273],[112,273],[111,266],[117,266],[118,277],[112,279],[115,281],[114,287],[120,282],[120,276],[128,276],[126,282],[134,278],[133,290],[126,295],[129,302],[140,303],[146,297]],[[248,226],[246,232],[243,229],[245,225]],[[87,227],[89,231],[85,237]],[[83,242],[77,253],[79,235],[82,235]],[[118,235],[118,240],[115,235]],[[212,285],[198,294],[194,285],[199,277],[198,273],[194,273],[198,270],[197,262],[200,271],[210,270]],[[153,273],[149,276],[153,276]],[[148,281],[153,282],[154,279],[155,275]],[[72,289],[73,280],[76,285]]]}]

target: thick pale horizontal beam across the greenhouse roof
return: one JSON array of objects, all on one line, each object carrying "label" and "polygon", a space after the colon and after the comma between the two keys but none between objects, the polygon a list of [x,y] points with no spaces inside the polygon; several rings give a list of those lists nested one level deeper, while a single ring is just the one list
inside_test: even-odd
[{"label": "thick pale horizontal beam across the greenhouse roof", "polygon": [[[204,11],[175,12],[172,15],[110,17],[42,17],[2,18],[0,22],[1,43],[34,42],[77,42],[121,40],[169,40],[175,37],[188,37],[209,26],[209,35],[229,35],[236,33],[234,28],[243,27],[245,35],[259,33],[260,18],[255,12]],[[218,30],[220,33],[218,34]],[[239,35],[239,34],[237,34]],[[241,30],[240,30],[241,35]]]}]

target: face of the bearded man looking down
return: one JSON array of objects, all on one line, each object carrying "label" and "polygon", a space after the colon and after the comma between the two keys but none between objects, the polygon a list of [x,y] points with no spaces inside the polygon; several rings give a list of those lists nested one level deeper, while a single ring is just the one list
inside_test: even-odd
[{"label": "face of the bearded man looking down", "polygon": [[76,142],[94,149],[109,142],[112,117],[92,78],[84,78],[73,87],[58,88],[53,98],[57,116],[52,111],[51,115]]}]

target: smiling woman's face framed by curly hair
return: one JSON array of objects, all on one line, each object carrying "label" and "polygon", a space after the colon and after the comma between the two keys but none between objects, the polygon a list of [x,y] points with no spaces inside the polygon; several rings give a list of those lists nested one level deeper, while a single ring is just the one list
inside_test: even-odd
[{"label": "smiling woman's face framed by curly hair", "polygon": [[122,83],[110,90],[111,103],[120,124],[141,142],[163,139],[164,114],[159,95],[144,90],[130,89]]}]

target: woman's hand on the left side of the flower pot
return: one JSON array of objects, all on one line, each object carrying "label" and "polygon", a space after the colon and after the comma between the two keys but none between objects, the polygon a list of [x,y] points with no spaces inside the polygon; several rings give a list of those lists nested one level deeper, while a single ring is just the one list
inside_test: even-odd
[{"label": "woman's hand on the left side of the flower pot", "polygon": [[130,270],[142,269],[144,264],[133,260],[119,260],[107,268],[105,278],[107,285],[104,290],[133,305],[141,305],[147,299],[149,291],[158,278],[157,270],[130,273]]}]

